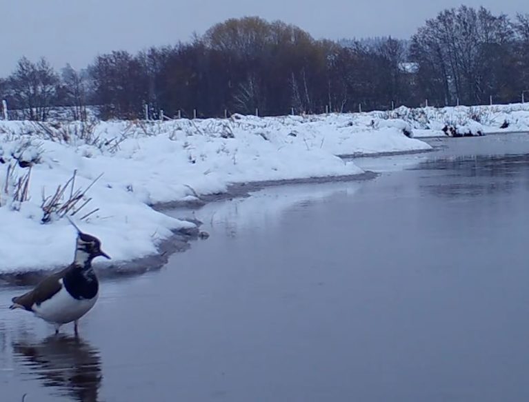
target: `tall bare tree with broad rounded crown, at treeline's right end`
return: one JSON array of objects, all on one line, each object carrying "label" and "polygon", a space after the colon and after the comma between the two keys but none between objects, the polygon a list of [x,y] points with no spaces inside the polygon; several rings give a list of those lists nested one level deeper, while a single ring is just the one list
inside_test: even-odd
[{"label": "tall bare tree with broad rounded crown, at treeline's right end", "polygon": [[488,99],[501,86],[494,80],[505,75],[498,70],[501,63],[495,56],[508,49],[511,39],[506,15],[494,16],[485,8],[461,6],[426,21],[413,36],[411,50],[420,66],[423,88],[430,87],[427,95],[430,92],[445,104],[456,99],[470,104]]}]

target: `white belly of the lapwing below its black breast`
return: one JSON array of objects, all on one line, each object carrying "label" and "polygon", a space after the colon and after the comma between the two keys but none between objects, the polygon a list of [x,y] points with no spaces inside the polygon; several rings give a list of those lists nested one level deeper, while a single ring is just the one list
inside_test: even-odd
[{"label": "white belly of the lapwing below its black breast", "polygon": [[96,294],[93,299],[74,299],[63,286],[51,299],[43,301],[40,305],[34,304],[32,310],[35,315],[50,323],[70,323],[94,307],[98,296],[99,294]]}]

